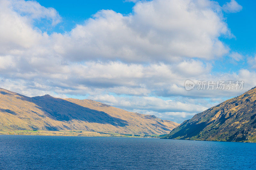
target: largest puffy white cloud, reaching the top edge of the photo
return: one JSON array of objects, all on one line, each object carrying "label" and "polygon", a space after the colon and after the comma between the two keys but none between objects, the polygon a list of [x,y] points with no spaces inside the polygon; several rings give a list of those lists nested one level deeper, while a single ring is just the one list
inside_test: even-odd
[{"label": "largest puffy white cloud, reaching the top edge of the photo", "polygon": [[56,38],[63,39],[59,46],[66,47],[65,55],[76,53],[72,59],[77,60],[213,59],[228,52],[218,38],[230,32],[221,12],[216,12],[218,6],[212,4],[189,0],[141,1],[133,7],[134,14],[123,16],[102,10],[70,34],[59,34]]}]

